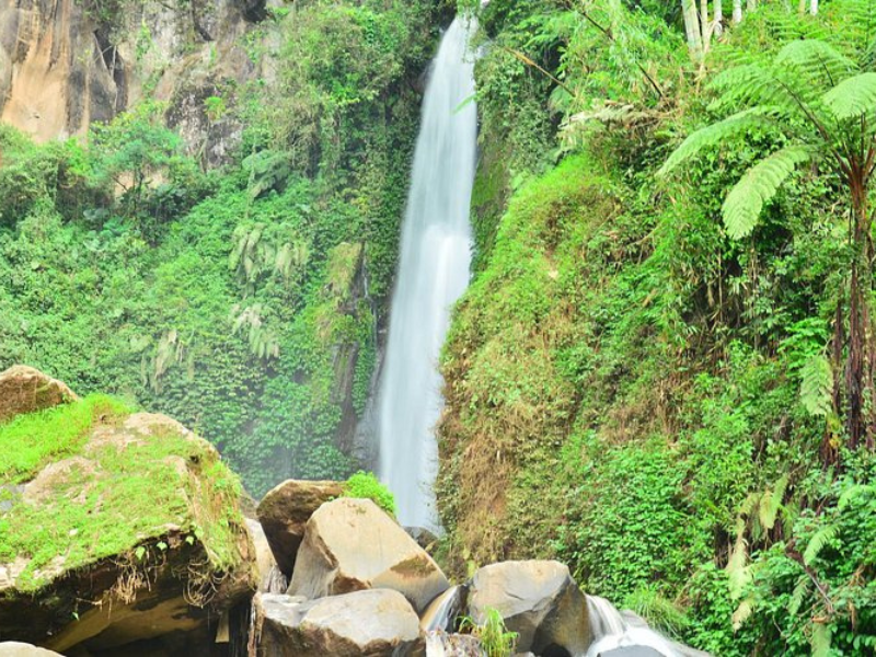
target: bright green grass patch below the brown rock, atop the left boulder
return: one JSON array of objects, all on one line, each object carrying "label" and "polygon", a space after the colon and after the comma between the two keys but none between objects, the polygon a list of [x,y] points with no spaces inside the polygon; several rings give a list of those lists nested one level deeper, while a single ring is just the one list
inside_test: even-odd
[{"label": "bright green grass patch below the brown rock, atop the left boulder", "polygon": [[130,413],[127,403],[105,395],[20,415],[0,425],[0,481],[18,483],[47,462],[72,454],[82,447],[95,422]]}]

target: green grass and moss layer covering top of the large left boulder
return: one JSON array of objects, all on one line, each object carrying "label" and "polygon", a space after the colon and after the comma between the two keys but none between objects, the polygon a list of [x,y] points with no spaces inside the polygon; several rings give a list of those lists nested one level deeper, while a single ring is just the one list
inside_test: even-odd
[{"label": "green grass and moss layer covering top of the large left boulder", "polygon": [[[0,470],[9,505],[0,562],[26,560],[20,592],[102,558],[142,561],[169,549],[169,533],[203,544],[215,573],[240,565],[238,477],[208,442],[173,426],[127,426],[129,413],[122,402],[90,396],[0,426],[3,452],[22,454]],[[50,471],[34,480],[49,458]],[[10,487],[24,479],[33,480],[27,499]]]}]

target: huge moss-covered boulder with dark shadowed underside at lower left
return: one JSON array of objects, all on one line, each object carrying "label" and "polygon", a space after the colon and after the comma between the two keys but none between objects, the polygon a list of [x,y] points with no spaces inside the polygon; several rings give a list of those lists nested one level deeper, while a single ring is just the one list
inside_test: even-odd
[{"label": "huge moss-covered boulder with dark shadowed underside at lower left", "polygon": [[208,442],[110,397],[0,424],[0,636],[210,636],[255,587],[240,493]]}]

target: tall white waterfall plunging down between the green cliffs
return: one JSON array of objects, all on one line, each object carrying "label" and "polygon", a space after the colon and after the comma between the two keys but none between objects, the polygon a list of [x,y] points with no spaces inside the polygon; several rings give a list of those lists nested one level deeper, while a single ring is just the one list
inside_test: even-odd
[{"label": "tall white waterfall plunging down between the green cliffs", "polygon": [[472,25],[458,18],[433,62],[407,197],[389,343],[379,388],[379,475],[403,525],[437,529],[438,356],[449,312],[469,284],[477,115]]}]

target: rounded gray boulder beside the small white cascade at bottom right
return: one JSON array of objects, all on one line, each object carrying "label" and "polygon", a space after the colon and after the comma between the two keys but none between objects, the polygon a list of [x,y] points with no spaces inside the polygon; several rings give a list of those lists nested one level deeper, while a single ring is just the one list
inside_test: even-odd
[{"label": "rounded gray boulder beside the small white cascade at bottom right", "polygon": [[518,633],[520,652],[584,655],[591,643],[586,598],[558,562],[503,562],[477,570],[469,612],[480,624],[489,609]]}]

